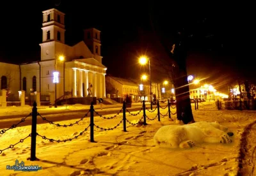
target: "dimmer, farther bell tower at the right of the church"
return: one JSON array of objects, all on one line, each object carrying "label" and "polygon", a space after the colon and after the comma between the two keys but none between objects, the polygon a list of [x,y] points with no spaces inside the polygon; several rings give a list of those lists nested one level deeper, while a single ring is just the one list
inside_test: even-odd
[{"label": "dimmer, farther bell tower at the right of the church", "polygon": [[100,31],[95,28],[84,30],[84,43],[92,54],[100,56]]}]

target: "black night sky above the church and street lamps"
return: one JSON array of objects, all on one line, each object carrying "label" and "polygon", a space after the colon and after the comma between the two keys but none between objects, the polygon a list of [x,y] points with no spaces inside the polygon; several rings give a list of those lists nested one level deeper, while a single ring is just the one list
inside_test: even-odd
[{"label": "black night sky above the church and street lamps", "polygon": [[[82,3],[84,2],[84,3]],[[173,3],[175,2],[175,3]],[[83,40],[83,29],[102,31],[103,64],[116,77],[136,78],[141,68],[138,57],[152,57],[152,78],[156,58],[163,54],[159,36],[172,43],[184,29],[190,45],[188,74],[221,78],[255,77],[255,18],[252,4],[185,4],[176,1],[8,1],[1,6],[0,61],[40,60],[42,11],[56,8],[65,15],[65,41],[74,45]],[[57,4],[58,6],[55,6]],[[150,20],[153,17],[155,20]],[[151,18],[152,19],[152,18]],[[153,32],[153,27],[155,32]],[[221,78],[220,78],[221,77]],[[159,78],[158,78],[159,79]]]}]

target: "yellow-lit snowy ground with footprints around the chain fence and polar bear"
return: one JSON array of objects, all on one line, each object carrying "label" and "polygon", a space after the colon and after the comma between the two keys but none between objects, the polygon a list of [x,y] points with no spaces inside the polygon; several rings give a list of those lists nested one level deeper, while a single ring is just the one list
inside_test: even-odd
[{"label": "yellow-lit snowy ground with footprints around the chain fence and polar bear", "polygon": [[[106,108],[105,106],[104,108]],[[65,106],[58,107],[63,108]],[[83,107],[84,108],[84,107]],[[15,109],[15,110],[14,110]],[[48,111],[50,108],[38,107],[38,112]],[[70,106],[69,110],[81,109],[81,106]],[[120,107],[116,107],[116,112]],[[51,110],[56,110],[51,108]],[[51,111],[49,110],[49,111]],[[172,109],[174,113],[176,110]],[[6,113],[28,115],[31,107],[0,109],[0,115]],[[100,114],[100,110],[97,110]],[[166,114],[167,108],[161,110]],[[135,112],[132,112],[135,114]],[[146,111],[147,117],[154,119],[157,111]],[[115,115],[115,114],[113,114]],[[113,115],[106,115],[112,117]],[[143,112],[139,115],[129,115],[130,122],[141,119]],[[127,132],[123,131],[123,124],[113,130],[100,130],[95,128],[94,140],[90,142],[90,128],[77,139],[67,142],[49,142],[42,137],[36,137],[36,157],[39,161],[29,161],[31,138],[26,138],[13,149],[4,150],[0,154],[0,175],[237,175],[239,164],[248,163],[246,170],[252,169],[255,161],[255,127],[248,128],[249,124],[255,122],[254,111],[216,110],[215,108],[194,110],[195,121],[218,121],[234,132],[232,143],[229,144],[197,144],[193,149],[170,149],[155,147],[153,137],[161,126],[176,124],[167,117],[161,117],[149,121],[147,126],[132,126],[127,122]],[[42,115],[47,118],[47,115]],[[28,117],[31,118],[31,117]],[[172,115],[172,119],[176,116]],[[60,124],[70,124],[77,120],[62,121]],[[95,117],[95,125],[102,128],[113,128],[122,121],[122,113],[113,119]],[[57,127],[54,124],[39,124],[37,133],[54,140],[65,140],[74,138],[84,131],[90,124],[90,118],[84,118],[74,126],[67,128]],[[250,131],[250,138],[242,139],[244,130]],[[254,132],[254,133],[253,133]],[[0,135],[0,150],[6,149],[20,139],[31,133],[31,126],[17,127]],[[241,157],[240,149],[243,147],[245,153],[250,156]],[[247,148],[246,148],[247,147]],[[254,156],[254,157],[253,157]],[[25,166],[38,165],[42,170],[38,172],[14,172],[6,170],[6,165],[15,165],[15,160],[24,161]],[[254,159],[254,160],[253,160]]]}]

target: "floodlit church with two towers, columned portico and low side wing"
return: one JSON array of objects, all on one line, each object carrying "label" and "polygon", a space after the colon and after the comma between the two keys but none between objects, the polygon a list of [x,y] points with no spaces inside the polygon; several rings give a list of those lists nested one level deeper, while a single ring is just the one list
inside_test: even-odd
[{"label": "floodlit church with two towers, columned portico and low side wing", "polygon": [[[54,8],[42,11],[41,59],[29,64],[0,62],[1,89],[10,95],[18,91],[40,92],[44,96],[106,98],[106,66],[100,55],[100,31],[84,30],[84,40],[65,44],[65,13]],[[52,103],[52,102],[51,102]]]}]

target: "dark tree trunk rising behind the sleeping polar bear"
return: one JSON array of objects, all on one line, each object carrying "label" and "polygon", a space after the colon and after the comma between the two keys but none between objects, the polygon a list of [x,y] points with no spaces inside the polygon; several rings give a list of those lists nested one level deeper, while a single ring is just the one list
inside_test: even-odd
[{"label": "dark tree trunk rising behind the sleeping polar bear", "polygon": [[[186,41],[188,41],[188,38],[183,33],[184,30],[179,31],[178,34],[170,34],[170,31],[166,30],[166,24],[163,24],[162,22],[162,24],[159,25],[161,16],[159,16],[160,18],[157,18],[157,15],[154,15],[154,13],[156,14],[156,9],[154,9],[154,6],[155,4],[152,1],[149,14],[150,22],[152,30],[156,34],[166,54],[170,58],[168,62],[172,63],[172,68],[170,71],[172,72],[172,80],[175,87],[177,119],[183,121],[184,124],[195,122],[189,98],[188,76],[186,70],[186,59],[188,52]],[[171,38],[173,41],[170,40],[170,36],[172,36]],[[170,43],[174,43],[172,50],[170,48],[172,46]]]}]

